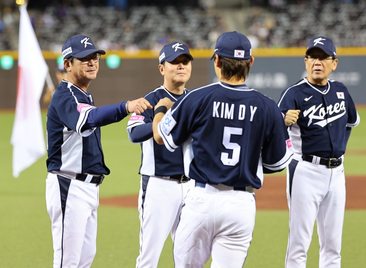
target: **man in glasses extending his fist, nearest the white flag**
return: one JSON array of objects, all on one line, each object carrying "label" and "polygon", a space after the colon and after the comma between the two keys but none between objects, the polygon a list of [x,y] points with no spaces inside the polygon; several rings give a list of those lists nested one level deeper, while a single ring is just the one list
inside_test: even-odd
[{"label": "man in glasses extending his fist, nearest the white flag", "polygon": [[110,173],[104,164],[100,126],[152,107],[143,98],[95,107],[87,88],[105,52],[96,49],[89,37],[76,35],[65,42],[62,54],[66,79],[47,112],[46,203],[54,268],[84,268],[90,267],[96,253],[98,186]]}]

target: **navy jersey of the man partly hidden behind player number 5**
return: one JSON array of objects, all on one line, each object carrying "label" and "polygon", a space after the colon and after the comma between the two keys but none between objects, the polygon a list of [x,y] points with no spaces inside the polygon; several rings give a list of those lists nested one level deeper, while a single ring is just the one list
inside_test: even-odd
[{"label": "navy jersey of the man partly hidden behind player number 5", "polygon": [[[188,90],[184,90],[186,95]],[[151,91],[144,98],[154,107],[156,103],[165,97],[171,101],[176,101],[179,96],[171,94],[166,88],[160,86]],[[141,167],[139,173],[147,176],[172,176],[184,174],[183,164],[183,147],[179,147],[175,152],[171,153],[166,150],[165,146],[158,145],[152,138],[152,120],[154,119],[154,109],[147,109],[140,115],[133,113],[127,124],[128,137],[133,143],[141,142]],[[138,129],[140,128],[140,129]],[[145,129],[142,129],[145,128]],[[134,140],[132,131],[145,132],[143,141]],[[132,132],[132,133],[131,133]]]}]

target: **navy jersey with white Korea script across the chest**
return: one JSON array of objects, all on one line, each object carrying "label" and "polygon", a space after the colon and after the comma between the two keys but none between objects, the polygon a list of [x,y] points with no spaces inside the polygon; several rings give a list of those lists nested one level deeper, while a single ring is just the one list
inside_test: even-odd
[{"label": "navy jersey with white Korea script across the chest", "polygon": [[323,158],[341,157],[348,140],[346,126],[359,123],[359,116],[347,88],[328,80],[325,86],[312,85],[306,78],[286,89],[278,102],[280,110],[300,110],[291,125],[290,138],[297,154]]}]

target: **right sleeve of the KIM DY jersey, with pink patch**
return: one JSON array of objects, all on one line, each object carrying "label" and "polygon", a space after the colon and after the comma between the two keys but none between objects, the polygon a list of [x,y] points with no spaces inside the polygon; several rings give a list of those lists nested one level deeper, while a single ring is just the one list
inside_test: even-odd
[{"label": "right sleeve of the KIM DY jersey, with pink patch", "polygon": [[270,126],[262,147],[262,164],[268,170],[281,171],[291,162],[292,144],[280,110],[274,106],[269,116]]}]

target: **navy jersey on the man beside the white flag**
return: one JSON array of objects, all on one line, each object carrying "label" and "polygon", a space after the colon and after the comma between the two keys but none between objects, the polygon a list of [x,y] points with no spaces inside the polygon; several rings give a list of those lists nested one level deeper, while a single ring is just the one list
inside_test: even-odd
[{"label": "navy jersey on the man beside the white flag", "polygon": [[[93,98],[74,84],[57,87],[47,112],[48,172],[108,175],[104,164],[100,127],[85,128]],[[73,175],[72,175],[73,174]]]}]

